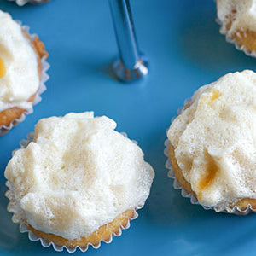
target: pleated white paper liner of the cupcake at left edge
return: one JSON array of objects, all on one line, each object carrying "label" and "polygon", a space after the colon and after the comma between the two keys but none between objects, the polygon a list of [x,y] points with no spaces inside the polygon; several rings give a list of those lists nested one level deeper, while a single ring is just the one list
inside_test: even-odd
[{"label": "pleated white paper liner of the cupcake at left edge", "polygon": [[[16,20],[17,23],[20,24],[21,26],[21,21],[20,20]],[[22,29],[24,29],[25,32],[27,32],[29,34],[29,36],[32,38],[32,40],[34,40],[35,38],[38,37],[37,34],[30,34],[29,33],[29,26],[22,26]],[[41,98],[41,94],[44,92],[44,90],[46,90],[46,86],[45,86],[45,82],[49,79],[49,75],[47,74],[47,70],[49,69],[49,63],[46,61],[46,57],[44,56],[43,58],[41,58],[41,64],[42,64],[42,75],[41,75],[41,80],[40,80],[40,84],[39,84],[39,88],[38,88],[38,92],[34,98],[34,101],[32,102],[32,107],[26,109],[25,113],[22,113],[19,119],[14,119],[9,126],[1,126],[0,127],[0,136],[3,136],[4,134],[6,134],[9,130],[11,130],[14,126],[18,125],[20,122],[24,121],[26,119],[26,115],[33,113],[33,106],[35,106],[36,104],[38,104],[38,102],[41,102],[42,98]]]}]

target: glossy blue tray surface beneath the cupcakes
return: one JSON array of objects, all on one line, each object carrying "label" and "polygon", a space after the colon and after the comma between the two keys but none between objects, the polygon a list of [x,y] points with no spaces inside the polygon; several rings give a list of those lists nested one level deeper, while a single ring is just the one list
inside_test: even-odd
[{"label": "glossy blue tray surface beneath the cupcakes", "polygon": [[150,74],[140,83],[120,84],[108,68],[117,53],[108,1],[52,0],[22,8],[0,1],[0,9],[40,35],[51,64],[43,101],[25,122],[0,137],[0,255],[58,254],[29,241],[12,224],[3,172],[12,150],[38,119],[85,110],[116,120],[118,131],[138,141],[156,172],[151,195],[131,228],[87,255],[255,254],[256,216],[229,216],[191,205],[172,189],[163,154],[166,128],[183,101],[224,73],[254,69],[255,60],[225,43],[212,0],[131,0],[131,7]]}]

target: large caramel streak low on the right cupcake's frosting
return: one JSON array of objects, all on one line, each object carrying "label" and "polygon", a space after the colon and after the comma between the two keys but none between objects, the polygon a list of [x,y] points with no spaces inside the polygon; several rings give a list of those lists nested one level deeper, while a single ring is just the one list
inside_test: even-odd
[{"label": "large caramel streak low on the right cupcake's frosting", "polygon": [[199,190],[200,193],[198,195],[198,199],[201,200],[201,192],[204,189],[207,189],[211,186],[212,182],[214,181],[214,178],[216,177],[216,174],[218,173],[218,165],[216,161],[212,158],[212,156],[206,151],[207,156],[207,170],[204,177],[201,178],[201,181],[199,182]]}]

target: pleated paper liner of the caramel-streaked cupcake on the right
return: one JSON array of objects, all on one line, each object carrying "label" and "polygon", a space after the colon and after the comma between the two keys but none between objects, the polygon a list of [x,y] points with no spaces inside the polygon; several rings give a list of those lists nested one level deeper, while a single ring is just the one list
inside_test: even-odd
[{"label": "pleated paper liner of the caramel-streaked cupcake on the right", "polygon": [[[186,100],[185,101],[185,104],[189,102],[189,100]],[[184,104],[184,105],[185,105]],[[177,114],[180,114],[182,113],[182,110],[183,108],[179,108],[177,110]],[[173,120],[176,119],[176,117],[172,118],[172,121],[171,121],[171,124],[173,122]],[[169,128],[168,128],[169,129]],[[166,130],[166,134],[167,134],[167,131],[168,129]],[[166,139],[165,141],[165,150],[164,150],[164,154],[166,155],[167,157],[167,160],[166,160],[166,169],[168,169],[168,177],[171,177],[173,179],[173,188],[174,189],[178,189],[178,190],[181,190],[181,195],[183,197],[186,197],[186,198],[189,198],[190,199],[190,202],[191,204],[193,205],[201,205],[201,203],[197,200],[197,198],[188,193],[185,189],[183,189],[183,187],[180,185],[180,183],[177,181],[177,178],[175,177],[175,174],[173,172],[173,168],[172,168],[172,162],[171,160],[169,159],[169,140]],[[236,214],[236,215],[247,215],[248,213],[250,212],[256,212],[256,209],[253,209],[253,207],[248,204],[247,208],[245,210],[241,210],[240,207],[225,207],[224,209],[221,209],[219,207],[206,207],[206,206],[202,206],[205,210],[214,210],[215,212],[224,212],[224,213],[232,213],[232,214]]]}]

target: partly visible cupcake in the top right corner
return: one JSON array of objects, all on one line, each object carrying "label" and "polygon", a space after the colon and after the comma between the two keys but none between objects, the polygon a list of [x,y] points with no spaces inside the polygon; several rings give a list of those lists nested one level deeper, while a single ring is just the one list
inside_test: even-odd
[{"label": "partly visible cupcake in the top right corner", "polygon": [[247,55],[256,56],[256,1],[216,0],[220,32]]}]

